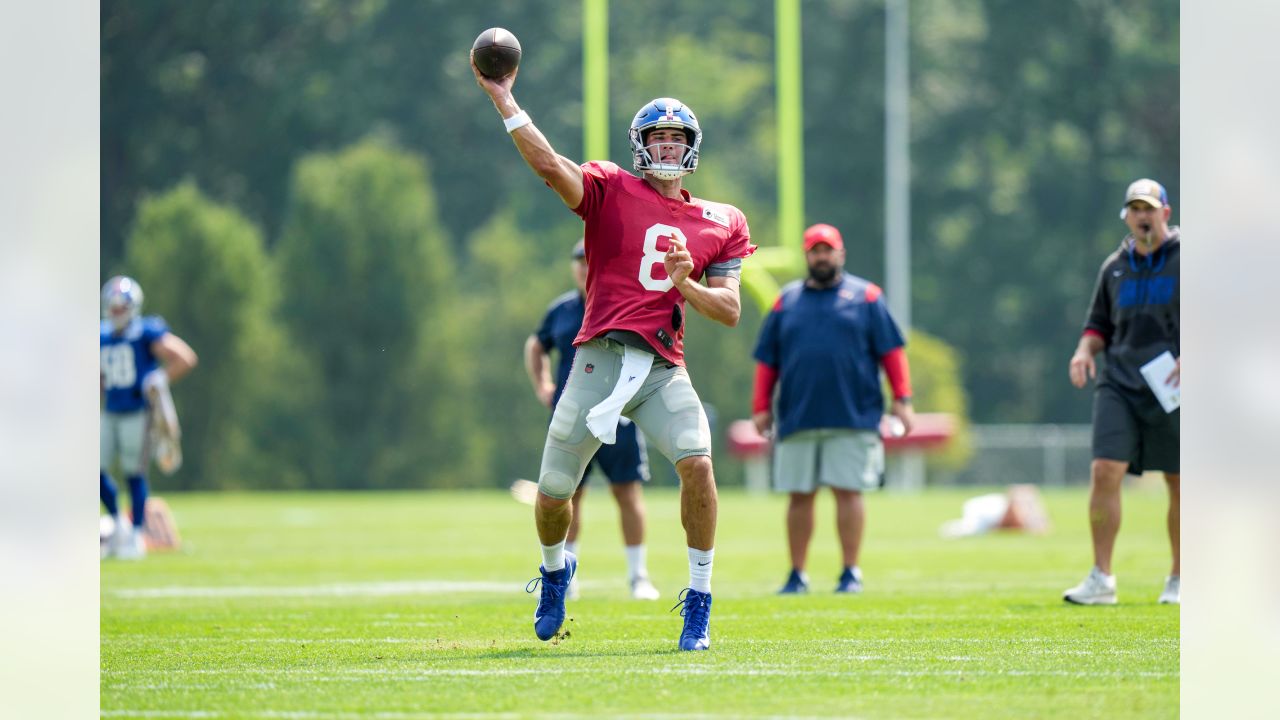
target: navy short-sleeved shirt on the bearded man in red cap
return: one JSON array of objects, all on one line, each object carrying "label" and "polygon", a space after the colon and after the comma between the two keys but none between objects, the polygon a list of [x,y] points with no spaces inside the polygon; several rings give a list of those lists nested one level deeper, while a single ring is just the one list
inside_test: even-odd
[{"label": "navy short-sleeved shirt on the bearded man in red cap", "polygon": [[787,284],[755,346],[755,359],[778,370],[778,438],[817,428],[878,428],[881,357],[904,345],[876,284],[849,273],[829,288]]}]

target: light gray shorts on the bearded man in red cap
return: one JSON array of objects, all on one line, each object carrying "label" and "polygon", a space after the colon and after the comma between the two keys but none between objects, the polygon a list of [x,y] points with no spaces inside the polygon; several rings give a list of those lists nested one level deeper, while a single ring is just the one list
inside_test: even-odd
[{"label": "light gray shorts on the bearded man in red cap", "polygon": [[773,489],[817,492],[818,486],[873,491],[884,484],[884,443],[876,430],[800,430],[773,447]]}]

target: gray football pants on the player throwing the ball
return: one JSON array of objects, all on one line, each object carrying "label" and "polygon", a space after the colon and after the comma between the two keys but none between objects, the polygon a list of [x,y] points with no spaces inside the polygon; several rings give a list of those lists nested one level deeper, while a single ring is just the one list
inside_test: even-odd
[{"label": "gray football pants on the player throwing the ball", "polygon": [[[543,464],[538,471],[538,487],[543,493],[567,498],[582,480],[588,461],[600,448],[600,441],[586,427],[586,414],[613,392],[622,369],[622,343],[605,338],[579,346],[564,393],[547,428]],[[684,368],[658,359],[622,414],[672,464],[712,454],[707,413]]]}]

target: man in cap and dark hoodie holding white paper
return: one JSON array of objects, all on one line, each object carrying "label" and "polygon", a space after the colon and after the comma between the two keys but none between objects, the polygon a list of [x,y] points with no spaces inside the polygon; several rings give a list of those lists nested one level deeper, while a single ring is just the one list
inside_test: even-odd
[{"label": "man in cap and dark hoodie holding white paper", "polygon": [[1093,395],[1093,462],[1089,468],[1089,527],[1093,568],[1084,580],[1062,593],[1078,605],[1114,605],[1116,579],[1111,553],[1120,532],[1120,486],[1125,473],[1162,470],[1169,486],[1169,543],[1172,570],[1160,602],[1181,600],[1179,519],[1181,475],[1179,438],[1181,410],[1166,413],[1140,368],[1169,352],[1172,372],[1155,382],[1176,387],[1180,379],[1181,234],[1169,227],[1169,193],[1152,179],[1125,191],[1120,218],[1129,234],[1098,272],[1084,333],[1071,355],[1071,384],[1084,387],[1097,375],[1093,356],[1106,351],[1107,364]]}]

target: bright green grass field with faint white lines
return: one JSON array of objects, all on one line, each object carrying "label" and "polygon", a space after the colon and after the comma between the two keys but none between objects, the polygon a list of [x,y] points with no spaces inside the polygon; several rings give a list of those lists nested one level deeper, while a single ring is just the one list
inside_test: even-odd
[{"label": "bright green grass field with faint white lines", "polygon": [[612,500],[588,496],[582,600],[553,643],[522,592],[531,509],[506,493],[169,496],[183,550],[102,564],[102,716],[1176,717],[1164,493],[1126,491],[1120,605],[1075,607],[1084,492],[1047,493],[1044,537],[940,539],[978,492],[872,496],[855,597],[829,592],[823,496],[814,592],[785,598],[785,500],[722,492],[701,653],[668,612],[689,571],[671,488],[646,496],[659,602],[628,598]]}]

